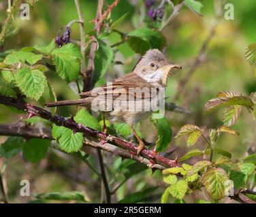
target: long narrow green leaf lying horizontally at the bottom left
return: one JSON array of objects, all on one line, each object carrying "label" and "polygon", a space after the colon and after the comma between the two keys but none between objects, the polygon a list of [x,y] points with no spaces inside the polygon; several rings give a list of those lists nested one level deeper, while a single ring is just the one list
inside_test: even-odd
[{"label": "long narrow green leaf lying horizontally at the bottom left", "polygon": [[86,200],[84,199],[84,195],[79,191],[51,192],[51,193],[35,195],[35,197],[37,199],[44,199],[44,200],[86,202]]}]

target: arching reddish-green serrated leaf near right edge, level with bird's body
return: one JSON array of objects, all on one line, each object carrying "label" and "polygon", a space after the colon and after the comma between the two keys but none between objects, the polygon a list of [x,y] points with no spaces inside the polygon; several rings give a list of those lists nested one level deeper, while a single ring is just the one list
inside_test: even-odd
[{"label": "arching reddish-green serrated leaf near right edge, level with bird's body", "polygon": [[236,92],[225,91],[219,92],[216,98],[209,100],[204,105],[204,111],[209,113],[214,109],[221,106],[231,106],[231,105],[241,105],[245,106],[247,109],[252,109],[253,101],[247,96],[242,96]]}]

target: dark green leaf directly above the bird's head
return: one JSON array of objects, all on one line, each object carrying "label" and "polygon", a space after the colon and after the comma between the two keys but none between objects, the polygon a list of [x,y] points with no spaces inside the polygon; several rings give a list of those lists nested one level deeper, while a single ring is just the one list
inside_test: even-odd
[{"label": "dark green leaf directly above the bird's head", "polygon": [[150,48],[161,50],[165,46],[165,38],[159,31],[153,31],[150,28],[136,28],[128,34],[127,43],[139,54],[144,54]]}]

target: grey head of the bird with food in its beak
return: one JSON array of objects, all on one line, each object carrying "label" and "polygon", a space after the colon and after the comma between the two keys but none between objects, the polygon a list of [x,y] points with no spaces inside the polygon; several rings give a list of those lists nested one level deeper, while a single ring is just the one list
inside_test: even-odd
[{"label": "grey head of the bird with food in its beak", "polygon": [[157,49],[148,50],[134,68],[134,73],[150,83],[159,83],[166,87],[168,77],[182,68],[177,64],[170,64],[163,53]]}]

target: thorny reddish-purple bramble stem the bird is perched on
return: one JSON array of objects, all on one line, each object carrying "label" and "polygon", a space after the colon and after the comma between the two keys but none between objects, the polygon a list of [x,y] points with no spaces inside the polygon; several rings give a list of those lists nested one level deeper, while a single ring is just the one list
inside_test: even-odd
[{"label": "thorny reddish-purple bramble stem the bird is perched on", "polygon": [[[114,146],[118,146],[121,149],[126,149],[130,151],[131,153],[137,153],[137,146],[131,142],[127,142],[126,140],[123,140],[121,138],[104,134],[101,131],[93,130],[90,127],[86,127],[85,125],[82,125],[80,123],[76,123],[72,119],[66,119],[65,117],[62,117],[60,115],[52,115],[50,112],[46,111],[45,109],[41,109],[37,106],[33,106],[32,104],[29,104],[27,102],[24,102],[22,100],[18,100],[16,98],[11,98],[7,96],[0,96],[0,104],[5,104],[7,106],[12,106],[16,109],[20,109],[22,111],[26,111],[29,113],[29,115],[35,115],[38,117],[42,117],[43,119],[46,119],[52,123],[55,123],[56,125],[61,125],[63,127],[67,127],[71,130],[74,130],[75,132],[82,132],[85,134],[85,136],[91,136],[92,138],[97,138],[101,140],[105,140],[106,142],[110,144],[114,144]],[[141,152],[142,157],[145,157],[146,159],[153,161],[155,163],[159,163],[163,167],[176,167],[178,166],[177,160],[170,160],[167,159],[154,151],[150,151],[148,149],[144,149]]]}]

